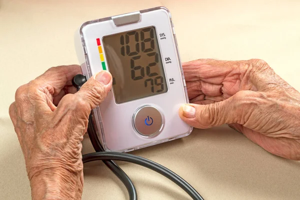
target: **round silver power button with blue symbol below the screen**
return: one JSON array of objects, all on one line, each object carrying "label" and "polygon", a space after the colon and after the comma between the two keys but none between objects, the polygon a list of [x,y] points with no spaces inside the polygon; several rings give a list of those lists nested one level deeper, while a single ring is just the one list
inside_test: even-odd
[{"label": "round silver power button with blue symbol below the screen", "polygon": [[141,135],[151,136],[161,131],[163,119],[161,113],[151,105],[138,108],[133,114],[133,127]]}]

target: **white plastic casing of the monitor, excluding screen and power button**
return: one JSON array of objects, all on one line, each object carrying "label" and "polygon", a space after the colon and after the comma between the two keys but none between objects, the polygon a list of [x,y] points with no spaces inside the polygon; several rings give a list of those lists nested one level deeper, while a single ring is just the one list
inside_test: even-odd
[{"label": "white plastic casing of the monitor, excluding screen and power button", "polygon": [[[148,26],[156,29],[168,89],[165,93],[120,104],[115,102],[113,89],[108,92],[104,101],[92,110],[94,128],[107,151],[127,152],[184,137],[192,131],[192,127],[183,122],[178,114],[180,105],[188,103],[188,97],[174,27],[167,8],[154,7],[84,22],[75,33],[76,53],[82,73],[89,78],[102,70],[96,38],[100,39],[101,45],[105,45],[103,36]],[[164,36],[160,37],[162,33]],[[170,79],[174,80],[171,84]],[[133,128],[132,116],[143,105],[154,106],[162,113],[163,126],[159,134],[145,137]]]}]

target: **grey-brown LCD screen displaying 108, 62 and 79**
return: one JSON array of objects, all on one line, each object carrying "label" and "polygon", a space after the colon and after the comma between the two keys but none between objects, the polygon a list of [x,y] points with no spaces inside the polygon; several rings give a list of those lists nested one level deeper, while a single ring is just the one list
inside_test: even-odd
[{"label": "grey-brown LCD screen displaying 108, 62 and 79", "polygon": [[155,27],[103,37],[116,103],[167,91]]}]

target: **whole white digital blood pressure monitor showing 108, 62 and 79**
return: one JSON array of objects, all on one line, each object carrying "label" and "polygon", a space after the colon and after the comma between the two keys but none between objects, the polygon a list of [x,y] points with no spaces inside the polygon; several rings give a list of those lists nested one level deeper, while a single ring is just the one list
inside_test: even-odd
[{"label": "whole white digital blood pressure monitor showing 108, 62 and 79", "polygon": [[188,135],[178,114],[188,103],[170,12],[164,7],[91,20],[75,35],[86,78],[100,70],[112,88],[92,110],[106,151],[127,152]]}]

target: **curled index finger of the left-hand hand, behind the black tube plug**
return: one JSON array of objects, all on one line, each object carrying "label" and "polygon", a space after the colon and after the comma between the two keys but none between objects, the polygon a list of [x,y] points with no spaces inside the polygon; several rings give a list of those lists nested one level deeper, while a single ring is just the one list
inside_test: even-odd
[{"label": "curled index finger of the left-hand hand, behind the black tube plug", "polygon": [[51,85],[54,89],[53,95],[56,95],[65,85],[72,85],[72,78],[78,73],[82,74],[79,65],[62,65],[49,68],[35,79]]}]

